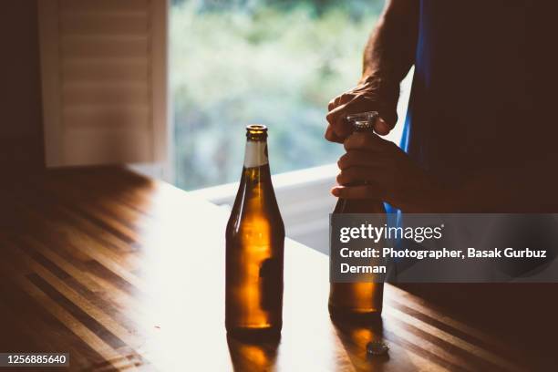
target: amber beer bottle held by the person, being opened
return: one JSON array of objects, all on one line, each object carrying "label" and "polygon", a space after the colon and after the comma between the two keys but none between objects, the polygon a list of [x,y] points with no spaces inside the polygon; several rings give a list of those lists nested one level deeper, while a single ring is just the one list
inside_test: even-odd
[{"label": "amber beer bottle held by the person, being opened", "polygon": [[[377,111],[347,116],[355,132],[374,132],[379,118]],[[366,183],[366,182],[365,182]],[[374,199],[348,200],[339,198],[334,213],[386,213],[384,203]],[[382,312],[384,284],[331,283],[329,313],[334,318],[374,318]]]}]

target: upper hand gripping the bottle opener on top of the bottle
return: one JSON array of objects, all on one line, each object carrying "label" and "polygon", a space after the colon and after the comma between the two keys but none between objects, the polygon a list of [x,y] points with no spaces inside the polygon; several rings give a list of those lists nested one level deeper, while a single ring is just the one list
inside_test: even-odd
[{"label": "upper hand gripping the bottle opener on top of the bottle", "polygon": [[365,79],[356,88],[346,91],[329,102],[327,106],[329,112],[325,116],[328,122],[325,139],[342,143],[353,132],[346,122],[346,116],[366,111],[379,112],[381,119],[377,120],[374,130],[378,134],[386,135],[393,129],[398,119],[397,102],[398,86],[390,89],[380,88],[378,79]]}]

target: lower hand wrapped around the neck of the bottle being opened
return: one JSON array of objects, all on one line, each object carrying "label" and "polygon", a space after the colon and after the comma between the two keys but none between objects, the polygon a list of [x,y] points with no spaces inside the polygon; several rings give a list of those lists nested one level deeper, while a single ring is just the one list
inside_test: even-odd
[{"label": "lower hand wrapped around the neck of the bottle being opened", "polygon": [[[404,212],[428,208],[438,190],[397,145],[374,133],[354,133],[345,140],[346,154],[332,193],[344,199],[377,199]],[[366,185],[350,186],[355,183]]]}]

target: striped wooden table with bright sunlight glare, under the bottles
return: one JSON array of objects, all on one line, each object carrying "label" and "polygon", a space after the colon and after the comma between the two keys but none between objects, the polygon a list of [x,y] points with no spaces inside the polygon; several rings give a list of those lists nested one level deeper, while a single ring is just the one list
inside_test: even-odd
[{"label": "striped wooden table with bright sunlight glare, under the bottles", "polygon": [[[288,239],[281,340],[227,339],[224,209],[119,168],[1,189],[0,352],[68,352],[72,370],[556,370],[526,334],[392,285],[382,324],[334,325],[327,257]],[[388,356],[367,356],[381,338]]]}]

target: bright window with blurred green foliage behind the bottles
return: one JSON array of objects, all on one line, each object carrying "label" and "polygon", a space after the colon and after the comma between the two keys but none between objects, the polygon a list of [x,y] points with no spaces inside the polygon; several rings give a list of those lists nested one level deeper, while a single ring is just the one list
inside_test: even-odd
[{"label": "bright window with blurred green foliage behind the bottles", "polygon": [[324,140],[327,102],[355,85],[382,6],[380,0],[174,0],[177,185],[195,190],[238,181],[244,127],[251,123],[269,127],[274,173],[335,162],[342,148]]}]

